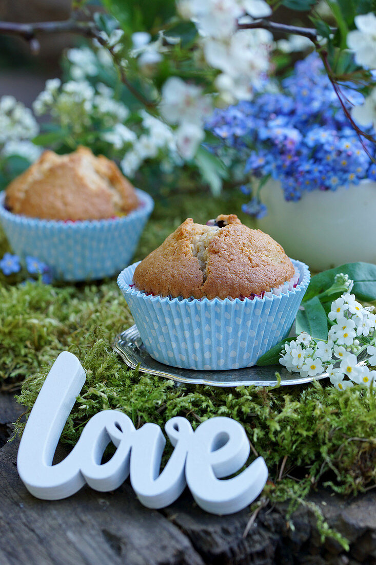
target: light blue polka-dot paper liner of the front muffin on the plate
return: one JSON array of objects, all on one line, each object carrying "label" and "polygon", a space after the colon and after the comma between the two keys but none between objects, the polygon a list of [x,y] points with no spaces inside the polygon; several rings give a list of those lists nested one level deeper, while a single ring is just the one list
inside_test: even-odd
[{"label": "light blue polka-dot paper liner of the front muffin on the plate", "polygon": [[146,294],[133,285],[138,263],[121,271],[117,284],[151,357],[185,369],[231,370],[251,367],[290,331],[311,277],[307,265],[292,264],[291,281],[250,298]]}]

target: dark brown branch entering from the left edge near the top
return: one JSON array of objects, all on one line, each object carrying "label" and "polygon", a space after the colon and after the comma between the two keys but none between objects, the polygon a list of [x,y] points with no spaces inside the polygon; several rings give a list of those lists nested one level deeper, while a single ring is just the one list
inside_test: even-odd
[{"label": "dark brown branch entering from the left edge near the top", "polygon": [[102,47],[111,54],[113,62],[119,69],[120,78],[123,84],[144,106],[154,107],[155,103],[145,98],[138,90],[129,82],[128,77],[121,65],[120,56],[115,53],[113,47],[107,44],[106,40],[100,35],[100,30],[93,21],[77,21],[75,18],[62,21],[41,21],[33,24],[20,24],[10,21],[0,21],[0,34],[21,37],[30,45],[33,54],[37,54],[40,50],[40,44],[37,36],[49,33],[75,33],[83,37],[96,39]]}]

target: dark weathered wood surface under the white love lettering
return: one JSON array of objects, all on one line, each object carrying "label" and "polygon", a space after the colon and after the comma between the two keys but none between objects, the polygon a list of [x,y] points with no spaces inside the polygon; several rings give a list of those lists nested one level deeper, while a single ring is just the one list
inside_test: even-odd
[{"label": "dark weathered wood surface under the white love lettering", "polygon": [[[244,537],[250,511],[212,516],[189,492],[163,511],[145,509],[126,482],[113,493],[84,488],[63,501],[39,501],[16,470],[18,442],[7,444],[22,408],[0,396],[1,565],[365,565],[376,564],[376,493],[342,499],[315,493],[330,525],[347,536],[347,554],[321,543],[309,510],[287,523],[283,507],[261,510]],[[62,457],[62,454],[60,454]]]}]

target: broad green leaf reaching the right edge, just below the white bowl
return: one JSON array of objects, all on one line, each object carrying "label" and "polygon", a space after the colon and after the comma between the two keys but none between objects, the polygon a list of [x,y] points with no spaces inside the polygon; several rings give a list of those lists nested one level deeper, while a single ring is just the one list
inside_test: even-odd
[{"label": "broad green leaf reaching the right edge, just below the white bowl", "polygon": [[358,262],[346,263],[314,275],[305,293],[304,302],[311,300],[311,298],[329,288],[334,282],[335,275],[338,275],[338,273],[347,274],[354,281],[351,292],[359,300],[366,302],[376,300],[376,265]]}]

